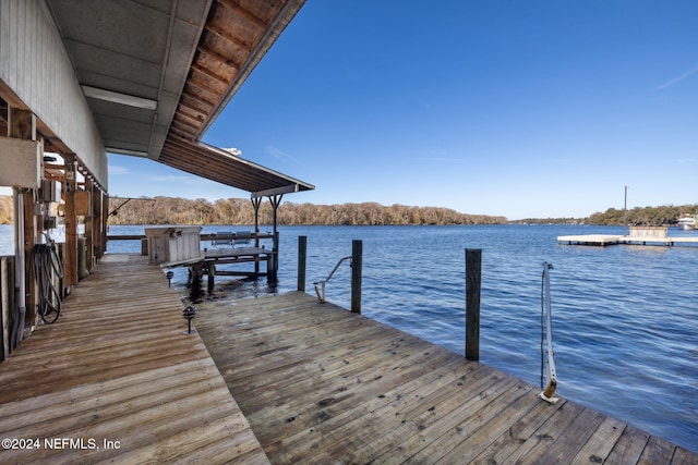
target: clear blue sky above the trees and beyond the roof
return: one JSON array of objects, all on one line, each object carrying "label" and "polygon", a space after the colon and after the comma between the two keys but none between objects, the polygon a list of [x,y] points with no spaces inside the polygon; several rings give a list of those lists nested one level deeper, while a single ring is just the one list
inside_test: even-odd
[{"label": "clear blue sky above the trees and beyond the roof", "polygon": [[[309,0],[204,140],[292,203],[509,219],[698,203],[698,2]],[[249,194],[109,156],[112,196]]]}]

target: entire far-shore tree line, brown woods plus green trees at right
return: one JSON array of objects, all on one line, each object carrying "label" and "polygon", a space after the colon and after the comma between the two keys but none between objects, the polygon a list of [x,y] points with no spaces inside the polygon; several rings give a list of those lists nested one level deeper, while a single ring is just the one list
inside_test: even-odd
[{"label": "entire far-shore tree line, brown woods plus green trees at right", "polygon": [[[254,209],[249,199],[228,198],[210,203],[173,197],[109,199],[110,224],[254,224]],[[13,222],[11,196],[0,196],[0,224]],[[588,218],[529,218],[517,223],[664,225],[676,224],[679,218],[698,215],[698,204],[683,206],[636,207],[624,211],[609,208]],[[285,203],[277,221],[284,225],[390,225],[390,224],[505,224],[504,217],[467,215],[441,207],[383,206],[376,203],[313,205]],[[272,222],[272,206],[262,203],[260,224]]]}]

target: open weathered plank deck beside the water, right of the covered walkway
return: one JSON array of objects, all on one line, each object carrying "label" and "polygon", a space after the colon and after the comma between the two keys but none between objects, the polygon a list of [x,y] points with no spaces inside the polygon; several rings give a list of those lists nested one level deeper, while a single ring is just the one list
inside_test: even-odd
[{"label": "open weathered plank deck beside the water, right of the covered walkway", "polygon": [[196,327],[274,464],[697,464],[698,454],[304,293]]}]

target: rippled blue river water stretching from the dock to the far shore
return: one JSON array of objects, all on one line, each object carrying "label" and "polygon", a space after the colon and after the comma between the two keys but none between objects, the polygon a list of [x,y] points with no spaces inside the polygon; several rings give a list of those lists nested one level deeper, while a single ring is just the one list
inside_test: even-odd
[{"label": "rippled blue river water stretching from the dock to the far shore", "polygon": [[[9,228],[9,229],[8,229]],[[250,230],[205,227],[203,232]],[[267,231],[262,228],[262,231]],[[0,254],[12,253],[0,227]],[[465,347],[465,249],[482,249],[480,357],[534,384],[541,369],[541,273],[551,271],[557,394],[698,451],[698,247],[558,245],[582,225],[280,227],[279,283],[218,277],[207,301],[296,290],[298,236],[308,236],[308,289],[363,241],[363,314],[454,352]],[[111,227],[111,234],[143,227]],[[698,234],[679,232],[670,235]],[[202,244],[209,246],[209,244]],[[269,245],[267,245],[268,247]],[[140,243],[111,242],[109,252]],[[186,293],[186,271],[173,285]],[[327,283],[350,306],[350,269]],[[197,304],[200,309],[206,301]]]}]

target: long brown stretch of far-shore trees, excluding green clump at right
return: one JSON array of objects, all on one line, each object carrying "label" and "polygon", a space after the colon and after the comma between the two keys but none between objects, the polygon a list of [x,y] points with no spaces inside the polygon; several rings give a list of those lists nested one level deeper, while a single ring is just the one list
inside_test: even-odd
[{"label": "long brown stretch of far-shore trees, excluding green clump at right", "polygon": [[[110,199],[110,224],[254,224],[249,199],[210,203],[198,198],[155,197],[154,200]],[[280,225],[388,225],[388,224],[504,224],[506,218],[465,215],[441,207],[383,206],[376,203],[313,205],[284,203],[277,210]],[[272,206],[263,201],[260,224],[272,223]]]}]

